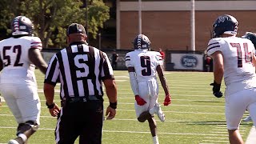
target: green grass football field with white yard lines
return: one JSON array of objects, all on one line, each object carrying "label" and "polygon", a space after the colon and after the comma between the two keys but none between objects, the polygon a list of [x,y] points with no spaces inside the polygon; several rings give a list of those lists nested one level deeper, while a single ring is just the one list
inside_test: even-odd
[{"label": "green grass football field with white yard lines", "polygon": [[[118,109],[113,120],[103,125],[102,144],[150,144],[152,138],[147,122],[136,120],[134,112],[134,94],[130,89],[126,71],[114,71],[118,86]],[[215,98],[211,94],[212,73],[202,72],[165,72],[170,86],[172,104],[162,106],[166,122],[158,122],[158,137],[161,144],[226,144],[228,134],[224,114],[224,98]],[[30,144],[54,144],[56,118],[50,116],[42,92],[44,76],[38,70],[38,93],[42,100],[41,126],[29,140]],[[58,87],[58,86],[57,86]],[[159,102],[164,99],[160,85]],[[224,85],[222,84],[222,91]],[[55,101],[59,103],[58,93]],[[108,100],[104,96],[105,107]],[[15,137],[16,122],[13,115],[2,102],[0,106],[0,143],[6,143]],[[244,116],[246,116],[246,113]],[[90,117],[90,116],[89,116]],[[240,131],[244,141],[250,132],[252,122],[242,122]],[[78,142],[76,142],[78,143]]]}]

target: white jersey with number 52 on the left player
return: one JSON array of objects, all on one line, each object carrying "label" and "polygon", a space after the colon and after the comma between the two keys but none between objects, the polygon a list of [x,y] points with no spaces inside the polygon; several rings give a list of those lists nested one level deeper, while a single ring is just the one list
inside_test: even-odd
[{"label": "white jersey with number 52 on the left player", "polygon": [[28,55],[30,49],[42,50],[41,39],[23,36],[0,41],[0,58],[4,65],[0,83],[26,83],[36,86],[35,66]]}]

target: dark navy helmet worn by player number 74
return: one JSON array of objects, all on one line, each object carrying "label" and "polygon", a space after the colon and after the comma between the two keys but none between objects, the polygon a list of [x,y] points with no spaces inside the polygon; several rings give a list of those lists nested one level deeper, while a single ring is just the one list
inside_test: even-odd
[{"label": "dark navy helmet worn by player number 74", "polygon": [[238,32],[238,21],[231,15],[219,16],[213,25],[213,37],[218,38],[222,34],[236,35]]}]

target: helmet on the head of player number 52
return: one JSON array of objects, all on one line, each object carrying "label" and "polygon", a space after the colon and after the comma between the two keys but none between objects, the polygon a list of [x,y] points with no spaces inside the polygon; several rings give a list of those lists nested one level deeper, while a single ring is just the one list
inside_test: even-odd
[{"label": "helmet on the head of player number 52", "polygon": [[11,34],[12,35],[32,35],[34,31],[34,25],[30,21],[30,18],[25,16],[15,17],[11,22]]}]

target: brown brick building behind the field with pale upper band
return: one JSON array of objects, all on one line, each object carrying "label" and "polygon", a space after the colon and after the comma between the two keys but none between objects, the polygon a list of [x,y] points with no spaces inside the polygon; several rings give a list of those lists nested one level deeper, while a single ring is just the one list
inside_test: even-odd
[{"label": "brown brick building behind the field with pale upper band", "polygon": [[[138,34],[138,0],[117,0],[117,49],[131,49]],[[212,24],[222,14],[238,19],[238,37],[256,32],[256,1],[195,1],[195,50],[206,50]],[[154,50],[190,50],[190,0],[142,0],[142,34]]]}]

